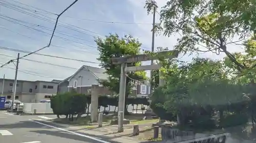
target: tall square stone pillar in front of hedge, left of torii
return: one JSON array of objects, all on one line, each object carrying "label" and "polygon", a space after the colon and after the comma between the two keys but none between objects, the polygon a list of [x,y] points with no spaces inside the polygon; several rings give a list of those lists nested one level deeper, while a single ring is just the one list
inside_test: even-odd
[{"label": "tall square stone pillar in front of hedge, left of torii", "polygon": [[98,121],[98,84],[92,84],[92,92],[91,92],[91,122]]}]

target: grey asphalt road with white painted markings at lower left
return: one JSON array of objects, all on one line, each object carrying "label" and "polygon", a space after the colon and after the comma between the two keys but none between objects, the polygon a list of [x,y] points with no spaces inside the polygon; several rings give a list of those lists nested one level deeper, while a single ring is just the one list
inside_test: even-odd
[{"label": "grey asphalt road with white painted markings at lower left", "polygon": [[50,122],[40,122],[56,116],[18,116],[0,111],[0,142],[8,143],[113,143],[66,130]]}]

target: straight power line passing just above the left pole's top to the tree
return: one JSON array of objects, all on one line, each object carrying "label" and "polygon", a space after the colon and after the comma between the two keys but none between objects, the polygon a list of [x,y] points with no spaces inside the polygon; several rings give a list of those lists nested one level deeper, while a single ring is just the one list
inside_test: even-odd
[{"label": "straight power line passing just above the left pole's top to the tree", "polygon": [[[23,52],[23,53],[31,53],[31,51],[25,51],[25,50],[19,50],[19,49],[13,49],[13,48],[8,48],[8,47],[1,47],[1,46],[0,46],[0,49],[9,50],[9,51],[16,51],[16,52]],[[72,60],[72,61],[78,61],[78,62],[84,62],[84,63],[99,64],[99,63],[96,63],[96,62],[90,62],[90,61],[83,61],[83,60],[65,58],[65,57],[54,56],[54,55],[49,55],[49,54],[42,54],[42,53],[34,53],[34,54],[42,55],[42,56],[49,56],[49,57],[58,58],[58,59],[65,59],[65,60]],[[17,59],[14,59],[14,60],[17,60]],[[12,61],[14,61],[14,60],[10,60],[9,62],[12,62]],[[8,63],[8,64],[9,64],[9,63]],[[2,67],[2,66],[1,66],[1,67]]]}]

